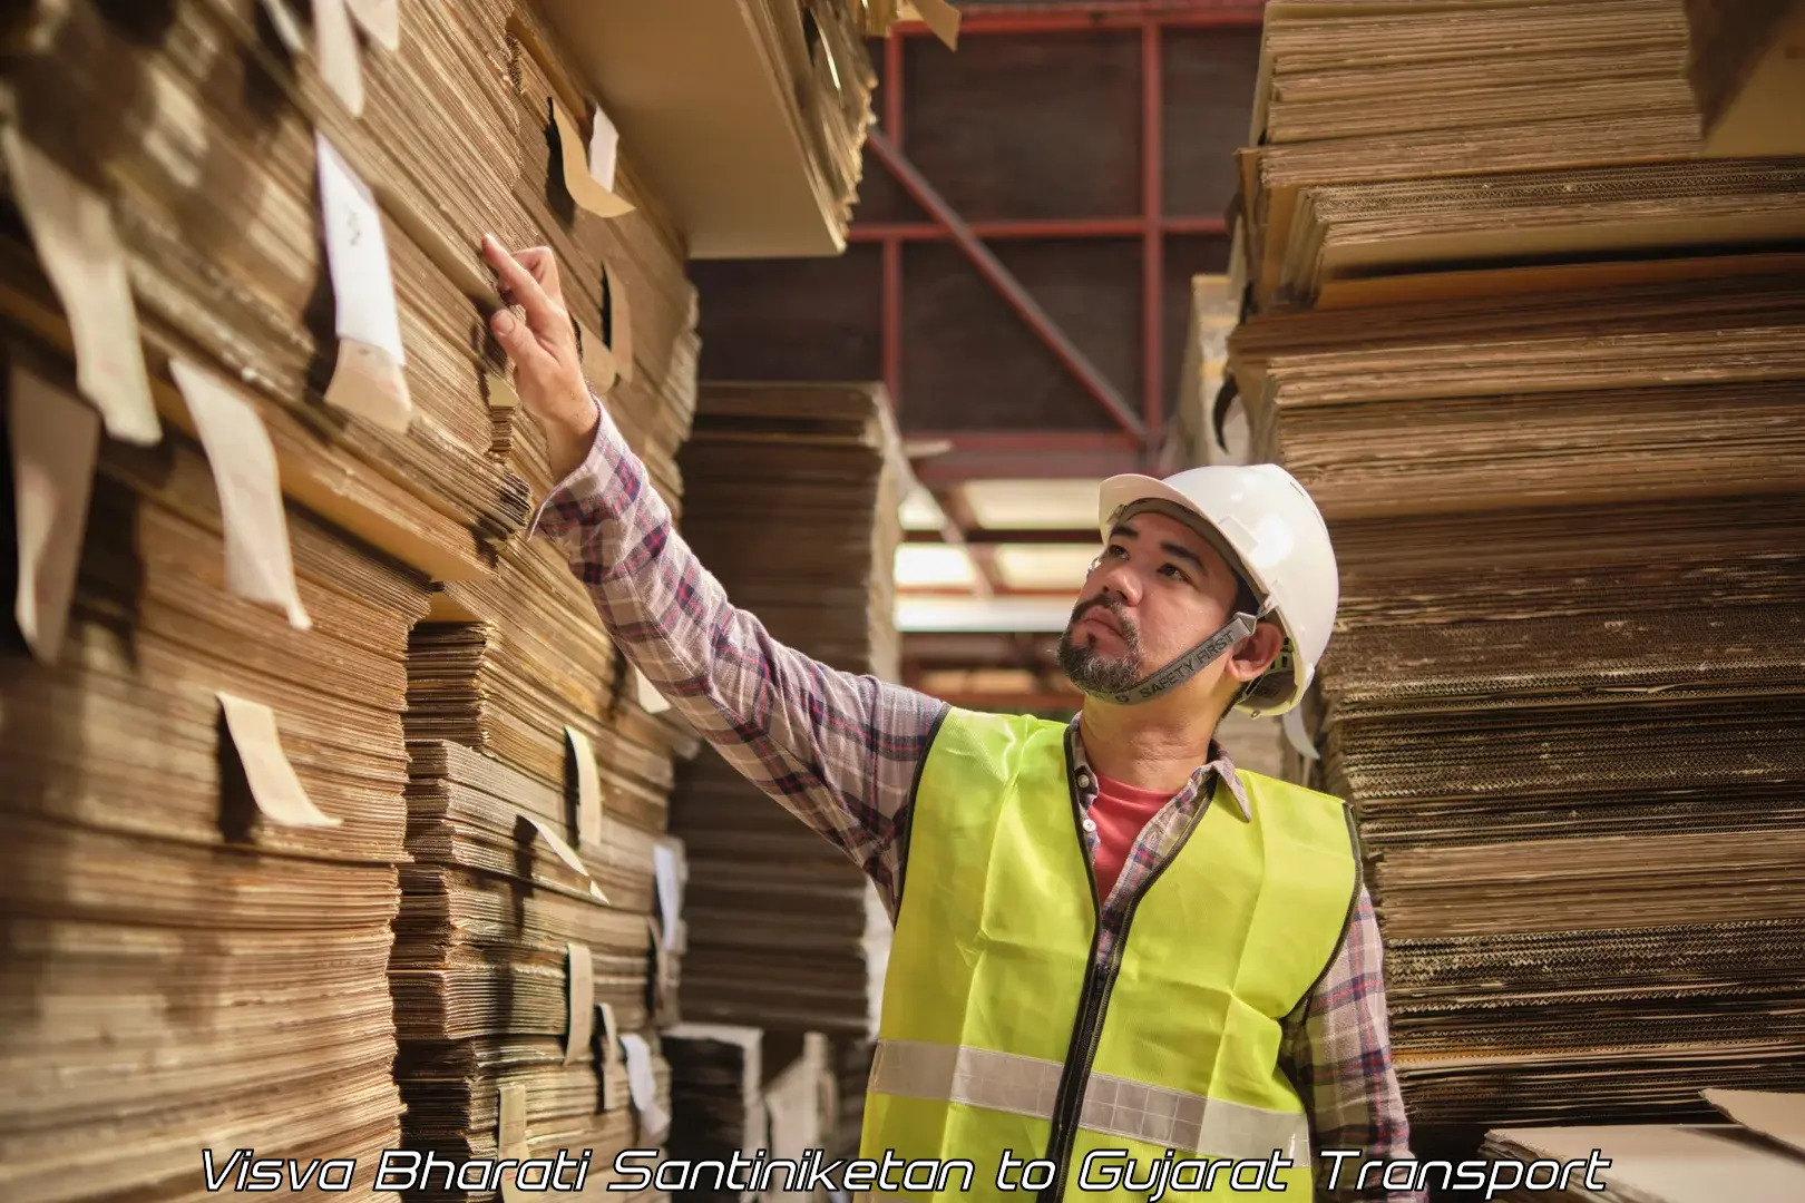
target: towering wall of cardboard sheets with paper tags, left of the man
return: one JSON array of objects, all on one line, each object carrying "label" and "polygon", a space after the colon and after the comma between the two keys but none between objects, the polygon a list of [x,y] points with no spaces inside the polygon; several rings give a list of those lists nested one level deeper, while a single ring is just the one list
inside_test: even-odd
[{"label": "towering wall of cardboard sheets with paper tags, left of the man", "polygon": [[552,482],[477,242],[552,242],[675,505],[682,240],[630,148],[601,170],[583,94],[552,103],[531,13],[314,18],[72,0],[9,29],[7,565],[38,657],[0,660],[9,1198],[204,1198],[202,1151],[242,1181],[245,1147],[368,1189],[404,1140],[664,1127],[688,736],[522,541]]}]

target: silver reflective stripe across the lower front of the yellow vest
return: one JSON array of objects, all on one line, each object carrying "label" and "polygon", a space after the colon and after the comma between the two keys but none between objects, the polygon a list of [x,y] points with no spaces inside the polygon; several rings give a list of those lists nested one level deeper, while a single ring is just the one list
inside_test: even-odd
[{"label": "silver reflective stripe across the lower front of the yellow vest", "polygon": [[[1051,1120],[1063,1071],[1058,1061],[987,1048],[879,1041],[870,1089]],[[1296,1111],[1249,1107],[1108,1073],[1090,1075],[1079,1124],[1179,1152],[1236,1160],[1262,1160],[1274,1151],[1298,1160],[1309,1156],[1310,1140],[1309,1122]]]}]

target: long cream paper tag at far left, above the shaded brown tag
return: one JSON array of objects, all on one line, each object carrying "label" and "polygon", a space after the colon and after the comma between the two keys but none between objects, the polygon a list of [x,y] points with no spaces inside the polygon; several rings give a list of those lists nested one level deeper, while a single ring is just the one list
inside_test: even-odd
[{"label": "long cream paper tag at far left, above the shaded brown tag", "polygon": [[76,344],[76,388],[94,402],[106,433],[150,447],[162,440],[137,332],[125,245],[106,198],[54,159],[0,126],[13,200],[31,231]]}]

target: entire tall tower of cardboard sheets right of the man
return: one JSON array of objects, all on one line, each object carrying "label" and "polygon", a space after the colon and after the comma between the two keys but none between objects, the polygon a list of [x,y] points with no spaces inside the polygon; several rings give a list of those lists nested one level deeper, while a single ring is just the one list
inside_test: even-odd
[{"label": "entire tall tower of cardboard sheets right of the man", "polygon": [[1805,1084],[1805,162],[1699,157],[1686,54],[1677,0],[1267,9],[1231,372],[1334,530],[1291,765],[1424,1131]]}]

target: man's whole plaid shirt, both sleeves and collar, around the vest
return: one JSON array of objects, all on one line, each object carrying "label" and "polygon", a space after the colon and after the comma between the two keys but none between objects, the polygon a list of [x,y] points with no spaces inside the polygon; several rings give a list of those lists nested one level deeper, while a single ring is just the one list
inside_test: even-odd
[{"label": "man's whole plaid shirt, both sleeves and collar, around the vest", "polygon": [[[915,767],[946,703],[832,669],[778,644],[754,615],[735,608],[673,528],[605,408],[588,458],[540,507],[532,530],[561,548],[608,631],[659,693],[740,774],[863,866],[893,920]],[[1074,720],[1074,774],[1088,810],[1097,783],[1079,725]],[[1211,758],[1135,840],[1101,907],[1106,938],[1189,815],[1209,804],[1213,779],[1227,786],[1217,797],[1247,813],[1235,765],[1218,747]],[[1096,833],[1085,835],[1094,855]],[[1285,1024],[1280,1059],[1309,1109],[1318,1156],[1359,1151],[1332,1194],[1323,1190],[1328,1163],[1318,1160],[1319,1199],[1426,1203],[1424,1192],[1386,1190],[1379,1172],[1366,1190],[1348,1189],[1359,1162],[1410,1158],[1381,956],[1363,887],[1339,956]]]}]

